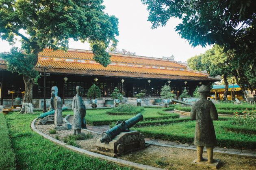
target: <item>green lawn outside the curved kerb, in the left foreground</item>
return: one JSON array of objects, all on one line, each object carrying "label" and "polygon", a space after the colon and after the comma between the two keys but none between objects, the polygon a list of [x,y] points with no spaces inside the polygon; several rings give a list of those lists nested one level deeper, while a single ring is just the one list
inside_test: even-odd
[{"label": "green lawn outside the curved kerb, in the left foreground", "polygon": [[[13,151],[16,155],[17,169],[129,169],[107,161],[80,155],[32,132],[30,128],[31,121],[38,115],[39,113],[33,115],[12,113],[6,116]],[[10,167],[13,167],[13,165],[10,165]]]}]

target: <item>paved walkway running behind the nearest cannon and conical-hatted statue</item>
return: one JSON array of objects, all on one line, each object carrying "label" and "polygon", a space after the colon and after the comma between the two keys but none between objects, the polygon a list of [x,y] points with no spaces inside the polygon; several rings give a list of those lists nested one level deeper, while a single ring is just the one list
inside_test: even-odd
[{"label": "paved walkway running behind the nearest cannon and conical-hatted statue", "polygon": [[[71,115],[67,115],[67,116],[68,116],[67,121],[72,124],[73,116]],[[109,125],[102,125],[102,126],[87,125],[87,129],[83,129],[83,130],[94,132],[97,134],[102,134],[106,130],[109,130],[109,128],[110,128]],[[150,139],[150,138],[145,138],[145,142],[146,144],[152,144],[152,145],[157,145],[162,147],[173,147],[173,148],[196,150],[196,146],[193,144],[184,144],[184,143],[170,142],[170,141]],[[204,151],[206,151],[205,147],[204,147]],[[256,158],[256,151],[254,150],[215,147],[213,151],[214,153],[221,153],[226,155],[236,155],[236,156],[242,156],[242,157]]]}]

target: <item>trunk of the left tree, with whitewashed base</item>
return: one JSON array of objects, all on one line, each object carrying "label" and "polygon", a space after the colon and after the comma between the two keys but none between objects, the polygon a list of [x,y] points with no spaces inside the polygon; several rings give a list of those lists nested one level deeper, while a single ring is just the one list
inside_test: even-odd
[{"label": "trunk of the left tree, with whitewashed base", "polygon": [[23,75],[23,80],[25,83],[25,95],[23,98],[22,109],[20,110],[20,114],[33,113],[32,99],[34,81],[26,75]]}]

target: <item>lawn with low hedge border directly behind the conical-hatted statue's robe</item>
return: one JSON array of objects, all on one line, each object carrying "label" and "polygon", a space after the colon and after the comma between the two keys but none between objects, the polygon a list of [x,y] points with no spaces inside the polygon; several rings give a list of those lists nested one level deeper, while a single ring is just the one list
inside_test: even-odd
[{"label": "lawn with low hedge border directly behind the conical-hatted statue's robe", "polygon": [[[256,135],[235,133],[224,130],[229,121],[213,121],[219,147],[236,147],[256,149]],[[161,126],[134,127],[144,136],[162,140],[179,141],[182,143],[193,143],[195,135],[195,121],[172,123]]]}]

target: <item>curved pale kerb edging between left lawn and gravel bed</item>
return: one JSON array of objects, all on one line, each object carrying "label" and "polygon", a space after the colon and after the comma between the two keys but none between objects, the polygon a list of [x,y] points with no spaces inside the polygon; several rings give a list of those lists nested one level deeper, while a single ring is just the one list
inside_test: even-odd
[{"label": "curved pale kerb edging between left lawn and gravel bed", "polygon": [[85,149],[80,149],[78,147],[74,147],[72,145],[68,145],[64,142],[61,142],[60,140],[56,140],[56,139],[40,132],[39,130],[37,130],[36,127],[35,127],[35,121],[36,120],[37,120],[37,118],[34,119],[31,123],[31,128],[34,132],[38,133],[39,135],[43,136],[44,138],[46,138],[46,139],[48,139],[48,140],[50,140],[50,141],[52,141],[56,144],[59,144],[59,145],[65,147],[65,148],[68,148],[72,151],[76,151],[78,153],[87,155],[89,157],[95,157],[95,158],[106,160],[106,161],[109,161],[109,162],[112,162],[112,163],[115,163],[115,164],[119,164],[121,166],[128,166],[128,167],[135,168],[135,169],[140,169],[140,170],[162,170],[160,168],[155,168],[155,167],[152,167],[152,166],[137,164],[137,163],[134,163],[134,162],[130,162],[130,161],[122,160],[122,159],[117,159],[117,158],[101,155],[101,154],[98,154],[98,153],[87,151]]}]

